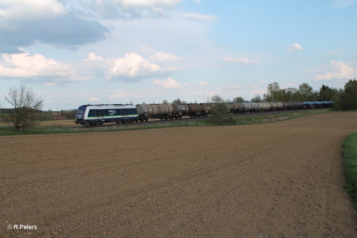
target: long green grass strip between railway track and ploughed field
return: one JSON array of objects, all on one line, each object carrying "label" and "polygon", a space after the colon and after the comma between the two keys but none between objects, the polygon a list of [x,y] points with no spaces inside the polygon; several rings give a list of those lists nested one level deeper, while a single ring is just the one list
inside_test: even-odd
[{"label": "long green grass strip between railway track and ploughed field", "polygon": [[286,113],[278,113],[273,115],[259,115],[252,114],[247,116],[225,116],[218,117],[212,121],[210,117],[200,121],[185,121],[185,122],[171,122],[154,125],[137,125],[137,126],[110,126],[110,127],[98,127],[98,128],[73,128],[63,130],[45,130],[50,128],[60,128],[60,126],[46,126],[46,127],[34,127],[27,128],[24,132],[15,132],[13,127],[0,127],[0,136],[10,135],[40,135],[40,134],[62,134],[62,133],[86,133],[86,132],[110,132],[110,131],[128,131],[128,130],[146,130],[154,128],[170,128],[170,127],[182,127],[182,126],[231,126],[231,125],[251,125],[268,122],[276,122],[288,120],[296,117],[307,116],[317,113],[332,112],[331,109],[326,110],[301,110],[291,111]]}]

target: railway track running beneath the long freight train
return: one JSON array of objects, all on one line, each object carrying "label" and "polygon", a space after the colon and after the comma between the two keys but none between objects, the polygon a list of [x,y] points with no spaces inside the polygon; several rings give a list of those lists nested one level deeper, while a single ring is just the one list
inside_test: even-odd
[{"label": "railway track running beneath the long freight train", "polygon": [[[326,108],[318,108],[318,109],[302,109],[304,111],[312,111],[312,110],[323,110]],[[241,114],[229,114],[229,115],[223,115],[221,117],[228,117],[228,116],[253,116],[253,115],[273,115],[273,114],[278,114],[278,113],[293,113],[297,112],[299,110],[287,110],[287,111],[269,111],[269,112],[256,112],[256,113],[241,113]],[[184,122],[184,121],[200,121],[200,120],[205,120],[208,117],[184,117],[180,119],[168,119],[168,120],[151,120],[151,121],[143,121],[143,122],[129,122],[129,123],[112,123],[112,124],[106,124],[106,125],[97,125],[97,126],[75,126],[75,127],[61,127],[61,128],[51,128],[51,129],[42,129],[39,131],[45,131],[45,130],[64,130],[64,129],[74,129],[74,128],[99,128],[99,127],[111,127],[111,126],[118,126],[118,127],[124,127],[124,126],[137,126],[137,125],[150,125],[150,124],[160,124],[160,123],[171,123],[171,122]]]}]

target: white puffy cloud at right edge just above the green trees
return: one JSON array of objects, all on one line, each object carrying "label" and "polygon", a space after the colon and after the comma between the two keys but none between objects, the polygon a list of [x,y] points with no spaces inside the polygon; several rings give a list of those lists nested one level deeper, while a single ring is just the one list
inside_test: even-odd
[{"label": "white puffy cloud at right edge just above the green trees", "polygon": [[342,61],[331,61],[331,71],[315,76],[314,81],[352,79],[355,76],[355,70]]}]

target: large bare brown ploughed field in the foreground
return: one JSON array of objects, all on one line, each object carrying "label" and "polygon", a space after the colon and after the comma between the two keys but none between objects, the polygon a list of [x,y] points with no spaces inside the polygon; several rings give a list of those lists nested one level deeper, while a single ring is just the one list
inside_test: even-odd
[{"label": "large bare brown ploughed field in the foreground", "polygon": [[340,151],[356,118],[2,136],[0,237],[355,238]]}]

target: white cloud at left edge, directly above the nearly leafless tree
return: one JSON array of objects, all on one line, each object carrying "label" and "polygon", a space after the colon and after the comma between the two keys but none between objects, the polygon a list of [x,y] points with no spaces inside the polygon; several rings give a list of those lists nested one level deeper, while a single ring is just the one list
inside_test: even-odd
[{"label": "white cloud at left edge, directly above the nearly leafless tree", "polygon": [[15,78],[44,77],[46,80],[52,78],[53,85],[56,82],[84,81],[85,77],[76,75],[70,65],[56,62],[54,59],[46,59],[40,54],[30,55],[24,49],[19,49],[20,54],[2,54],[4,61],[0,64],[0,76]]}]

